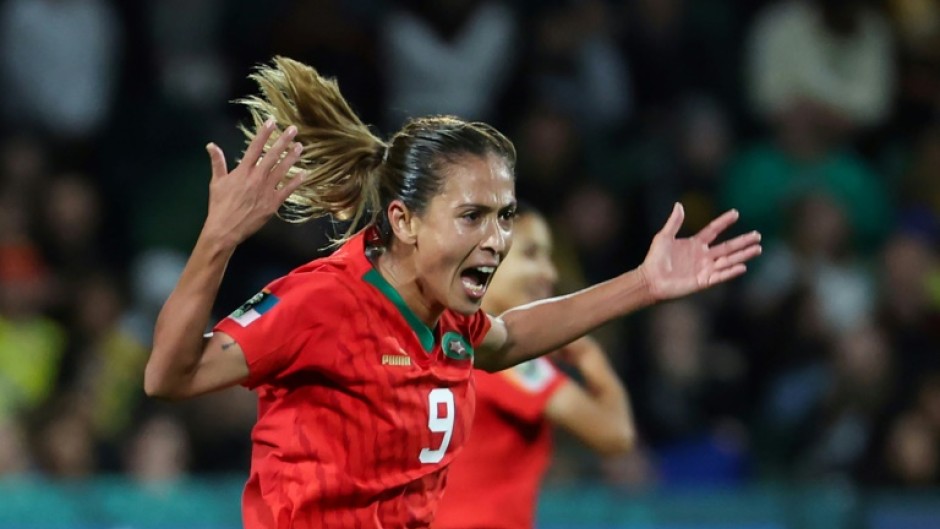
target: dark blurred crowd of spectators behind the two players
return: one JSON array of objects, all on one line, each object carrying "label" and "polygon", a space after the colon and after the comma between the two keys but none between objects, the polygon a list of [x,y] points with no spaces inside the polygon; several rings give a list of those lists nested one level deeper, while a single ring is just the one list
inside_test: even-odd
[{"label": "dark blurred crowd of spectators behind the two players", "polygon": [[[251,69],[336,76],[388,136],[490,122],[560,292],[638,264],[671,205],[764,234],[728,287],[598,333],[641,446],[551,483],[940,485],[940,2],[0,0],[0,477],[247,471],[251,393],[142,392],[156,314],[235,163]],[[216,317],[323,253],[239,249]]]}]

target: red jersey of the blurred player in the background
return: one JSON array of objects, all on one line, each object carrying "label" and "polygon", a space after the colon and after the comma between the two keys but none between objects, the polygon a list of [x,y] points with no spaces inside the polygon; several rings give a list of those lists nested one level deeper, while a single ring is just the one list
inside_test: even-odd
[{"label": "red jersey of the blurred player in the background", "polygon": [[568,378],[545,358],[474,373],[477,414],[450,467],[435,529],[531,529],[552,452],[545,406]]}]

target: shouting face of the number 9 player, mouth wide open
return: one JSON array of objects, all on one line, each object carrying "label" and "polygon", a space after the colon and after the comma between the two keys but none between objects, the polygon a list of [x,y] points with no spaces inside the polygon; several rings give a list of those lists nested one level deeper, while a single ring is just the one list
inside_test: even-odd
[{"label": "shouting face of the number 9 player, mouth wide open", "polygon": [[512,244],[515,180],[499,156],[466,156],[442,170],[441,192],[414,219],[418,288],[431,314],[473,314]]}]

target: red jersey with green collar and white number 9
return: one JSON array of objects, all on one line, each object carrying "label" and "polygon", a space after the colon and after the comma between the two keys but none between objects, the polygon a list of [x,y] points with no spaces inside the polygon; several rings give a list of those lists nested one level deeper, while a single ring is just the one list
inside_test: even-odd
[{"label": "red jersey with green collar and white number 9", "polygon": [[473,418],[489,319],[432,331],[372,267],[365,235],[222,320],[258,394],[248,529],[428,527]]}]

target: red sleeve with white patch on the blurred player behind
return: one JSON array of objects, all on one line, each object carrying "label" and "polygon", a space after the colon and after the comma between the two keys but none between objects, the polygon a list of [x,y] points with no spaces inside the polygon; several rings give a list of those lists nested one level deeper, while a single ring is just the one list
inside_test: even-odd
[{"label": "red sleeve with white patch on the blurred player behind", "polygon": [[534,422],[542,417],[552,395],[568,381],[548,359],[536,358],[477,377],[477,394],[505,413]]}]

